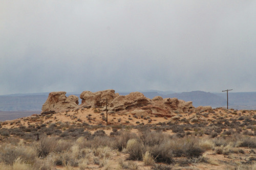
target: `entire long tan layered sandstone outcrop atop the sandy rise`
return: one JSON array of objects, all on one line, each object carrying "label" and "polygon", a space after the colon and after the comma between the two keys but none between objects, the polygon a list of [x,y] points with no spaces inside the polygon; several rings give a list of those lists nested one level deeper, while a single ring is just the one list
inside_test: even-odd
[{"label": "entire long tan layered sandstone outcrop atop the sandy rise", "polygon": [[[115,112],[131,112],[132,114],[147,115],[155,114],[158,116],[174,115],[174,113],[185,113],[198,111],[192,102],[185,102],[177,98],[163,99],[161,96],[148,99],[140,92],[132,92],[128,95],[119,95],[115,90],[103,90],[97,92],[83,91],[80,94],[81,105],[78,105],[78,97],[70,95],[66,97],[66,92],[51,92],[46,103],[42,106],[42,112],[46,111],[66,111],[69,109],[79,109],[83,107],[106,108],[108,100],[108,110]],[[202,107],[201,109],[210,109]]]}]

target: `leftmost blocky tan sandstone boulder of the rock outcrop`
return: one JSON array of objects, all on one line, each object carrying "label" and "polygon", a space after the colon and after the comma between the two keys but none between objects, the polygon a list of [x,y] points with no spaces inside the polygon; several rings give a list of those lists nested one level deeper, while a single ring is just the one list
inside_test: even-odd
[{"label": "leftmost blocky tan sandstone boulder of the rock outcrop", "polygon": [[61,112],[69,109],[74,109],[78,106],[78,97],[75,95],[67,96],[65,91],[51,92],[49,93],[48,99],[42,105],[42,111],[49,112]]}]

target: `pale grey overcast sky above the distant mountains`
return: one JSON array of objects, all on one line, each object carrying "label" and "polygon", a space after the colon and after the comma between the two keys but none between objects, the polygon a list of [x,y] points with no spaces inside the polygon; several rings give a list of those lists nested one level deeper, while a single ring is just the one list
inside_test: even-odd
[{"label": "pale grey overcast sky above the distant mountains", "polygon": [[0,1],[0,95],[256,91],[256,1]]}]

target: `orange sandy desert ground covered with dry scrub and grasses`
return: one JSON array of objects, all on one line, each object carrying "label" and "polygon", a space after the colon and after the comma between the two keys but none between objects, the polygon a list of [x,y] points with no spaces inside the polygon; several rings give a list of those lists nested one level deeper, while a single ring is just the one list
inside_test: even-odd
[{"label": "orange sandy desert ground covered with dry scrub and grasses", "polygon": [[34,114],[1,123],[0,169],[256,169],[255,112]]}]

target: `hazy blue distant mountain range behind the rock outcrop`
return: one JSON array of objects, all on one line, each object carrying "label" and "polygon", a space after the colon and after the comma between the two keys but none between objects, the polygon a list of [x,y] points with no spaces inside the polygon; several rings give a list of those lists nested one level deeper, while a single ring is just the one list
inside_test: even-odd
[{"label": "hazy blue distant mountain range behind the rock outcrop", "polygon": [[[169,93],[173,91],[146,90],[140,91],[147,98],[162,96],[162,98],[178,98],[184,101],[192,101],[195,107],[211,106],[226,107],[226,93],[211,93],[204,91],[191,91],[181,93]],[[120,95],[126,95],[130,92],[119,92]],[[29,94],[9,94],[0,95],[0,111],[40,111],[42,104],[48,98],[49,93],[29,93]],[[74,93],[67,93],[71,95]],[[79,97],[80,94],[74,94]],[[256,110],[256,92],[229,92],[229,108]],[[81,103],[81,100],[79,101]],[[1,116],[1,115],[0,115]]]}]

